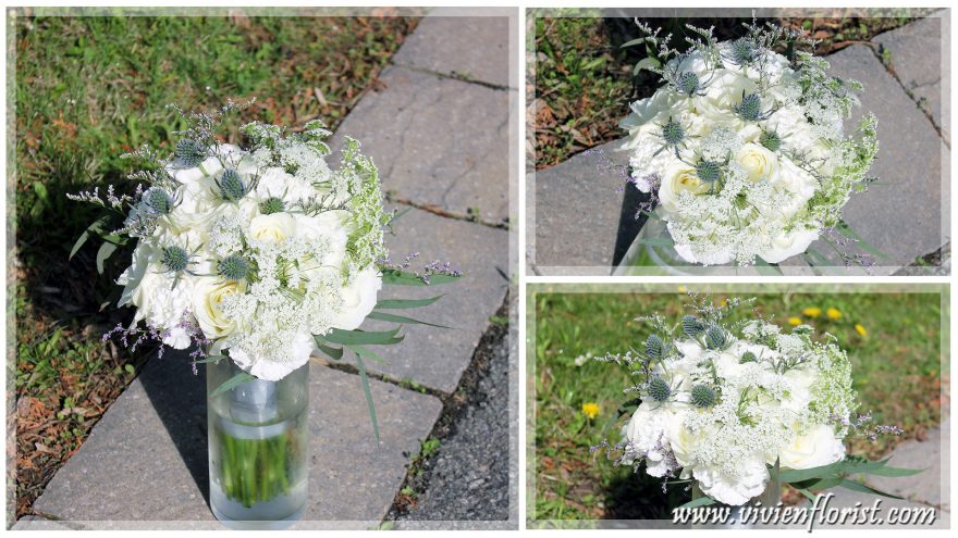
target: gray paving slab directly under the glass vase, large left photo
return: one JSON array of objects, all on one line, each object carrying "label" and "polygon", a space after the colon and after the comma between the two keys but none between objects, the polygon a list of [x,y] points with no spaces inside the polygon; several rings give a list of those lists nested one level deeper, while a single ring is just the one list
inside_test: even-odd
[{"label": "gray paving slab directly under the glass vase, large left photo", "polygon": [[[311,368],[309,522],[376,522],[392,504],[408,454],[442,411],[427,395],[373,381],[376,447],[358,376]],[[217,527],[207,504],[206,380],[182,356],[152,360],[110,406],[34,508],[93,528]],[[167,525],[165,523],[162,524]]]}]

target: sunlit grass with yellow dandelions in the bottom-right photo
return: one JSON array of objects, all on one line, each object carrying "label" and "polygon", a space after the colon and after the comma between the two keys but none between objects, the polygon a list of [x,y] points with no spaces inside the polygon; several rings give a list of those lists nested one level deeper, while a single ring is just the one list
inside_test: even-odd
[{"label": "sunlit grass with yellow dandelions in the bottom-right photo", "polygon": [[[724,297],[716,295],[715,300]],[[630,468],[615,468],[589,448],[618,441],[617,408],[627,398],[625,368],[599,362],[575,364],[591,353],[639,347],[648,328],[634,320],[660,312],[676,322],[688,298],[678,293],[539,293],[536,309],[535,398],[536,499],[530,518],[661,518],[683,499],[681,487],[662,492],[659,479]],[[852,453],[879,456],[907,439],[921,439],[941,423],[941,299],[937,293],[788,293],[762,295],[758,310],[788,326],[799,317],[819,333],[838,337],[851,358],[861,410],[881,424],[898,425],[901,437],[876,442],[855,439]],[[818,308],[816,317],[803,315]],[[832,320],[826,310],[836,309]],[[856,328],[861,326],[863,334]],[[531,350],[530,350],[531,352]],[[945,377],[945,383],[947,383]],[[595,403],[590,418],[585,403]]]}]

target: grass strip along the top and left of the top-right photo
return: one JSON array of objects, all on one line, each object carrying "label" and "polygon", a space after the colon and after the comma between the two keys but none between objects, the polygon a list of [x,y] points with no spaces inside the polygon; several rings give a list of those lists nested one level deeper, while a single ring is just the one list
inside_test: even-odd
[{"label": "grass strip along the top and left of the top-right photo", "polygon": [[[846,10],[848,11],[848,10]],[[766,20],[802,29],[820,39],[816,53],[830,54],[850,45],[897,28],[933,10],[875,10],[869,18],[842,16]],[[629,102],[649,97],[659,86],[648,72],[634,74],[646,57],[642,47],[622,45],[640,37],[628,18],[603,18],[600,10],[575,10],[578,16],[529,17],[531,40],[527,64],[527,95],[530,130],[535,148],[528,159],[541,170],[558,164],[586,149],[625,135],[618,122],[629,112]],[[877,16],[882,15],[882,16]],[[741,35],[744,18],[648,18],[679,38],[688,34],[686,23],[715,26],[720,39]],[[535,83],[533,83],[535,80]]]}]

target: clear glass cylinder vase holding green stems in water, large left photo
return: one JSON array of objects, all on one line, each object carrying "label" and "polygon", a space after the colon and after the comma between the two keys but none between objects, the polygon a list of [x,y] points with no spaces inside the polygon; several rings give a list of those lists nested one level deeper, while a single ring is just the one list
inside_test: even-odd
[{"label": "clear glass cylinder vase holding green stems in water, large left photo", "polygon": [[309,365],[213,396],[240,372],[207,364],[210,509],[228,527],[284,528],[306,508]]}]

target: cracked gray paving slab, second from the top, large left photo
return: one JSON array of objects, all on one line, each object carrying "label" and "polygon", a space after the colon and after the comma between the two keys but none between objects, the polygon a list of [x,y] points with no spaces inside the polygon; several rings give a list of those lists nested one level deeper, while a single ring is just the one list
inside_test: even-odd
[{"label": "cracked gray paving slab, second from the top, large left photo", "polygon": [[482,218],[505,222],[511,92],[397,66],[379,79],[386,88],[359,101],[333,136],[333,149],[342,147],[343,136],[356,138],[386,190],[417,204],[459,214],[474,209]]}]

